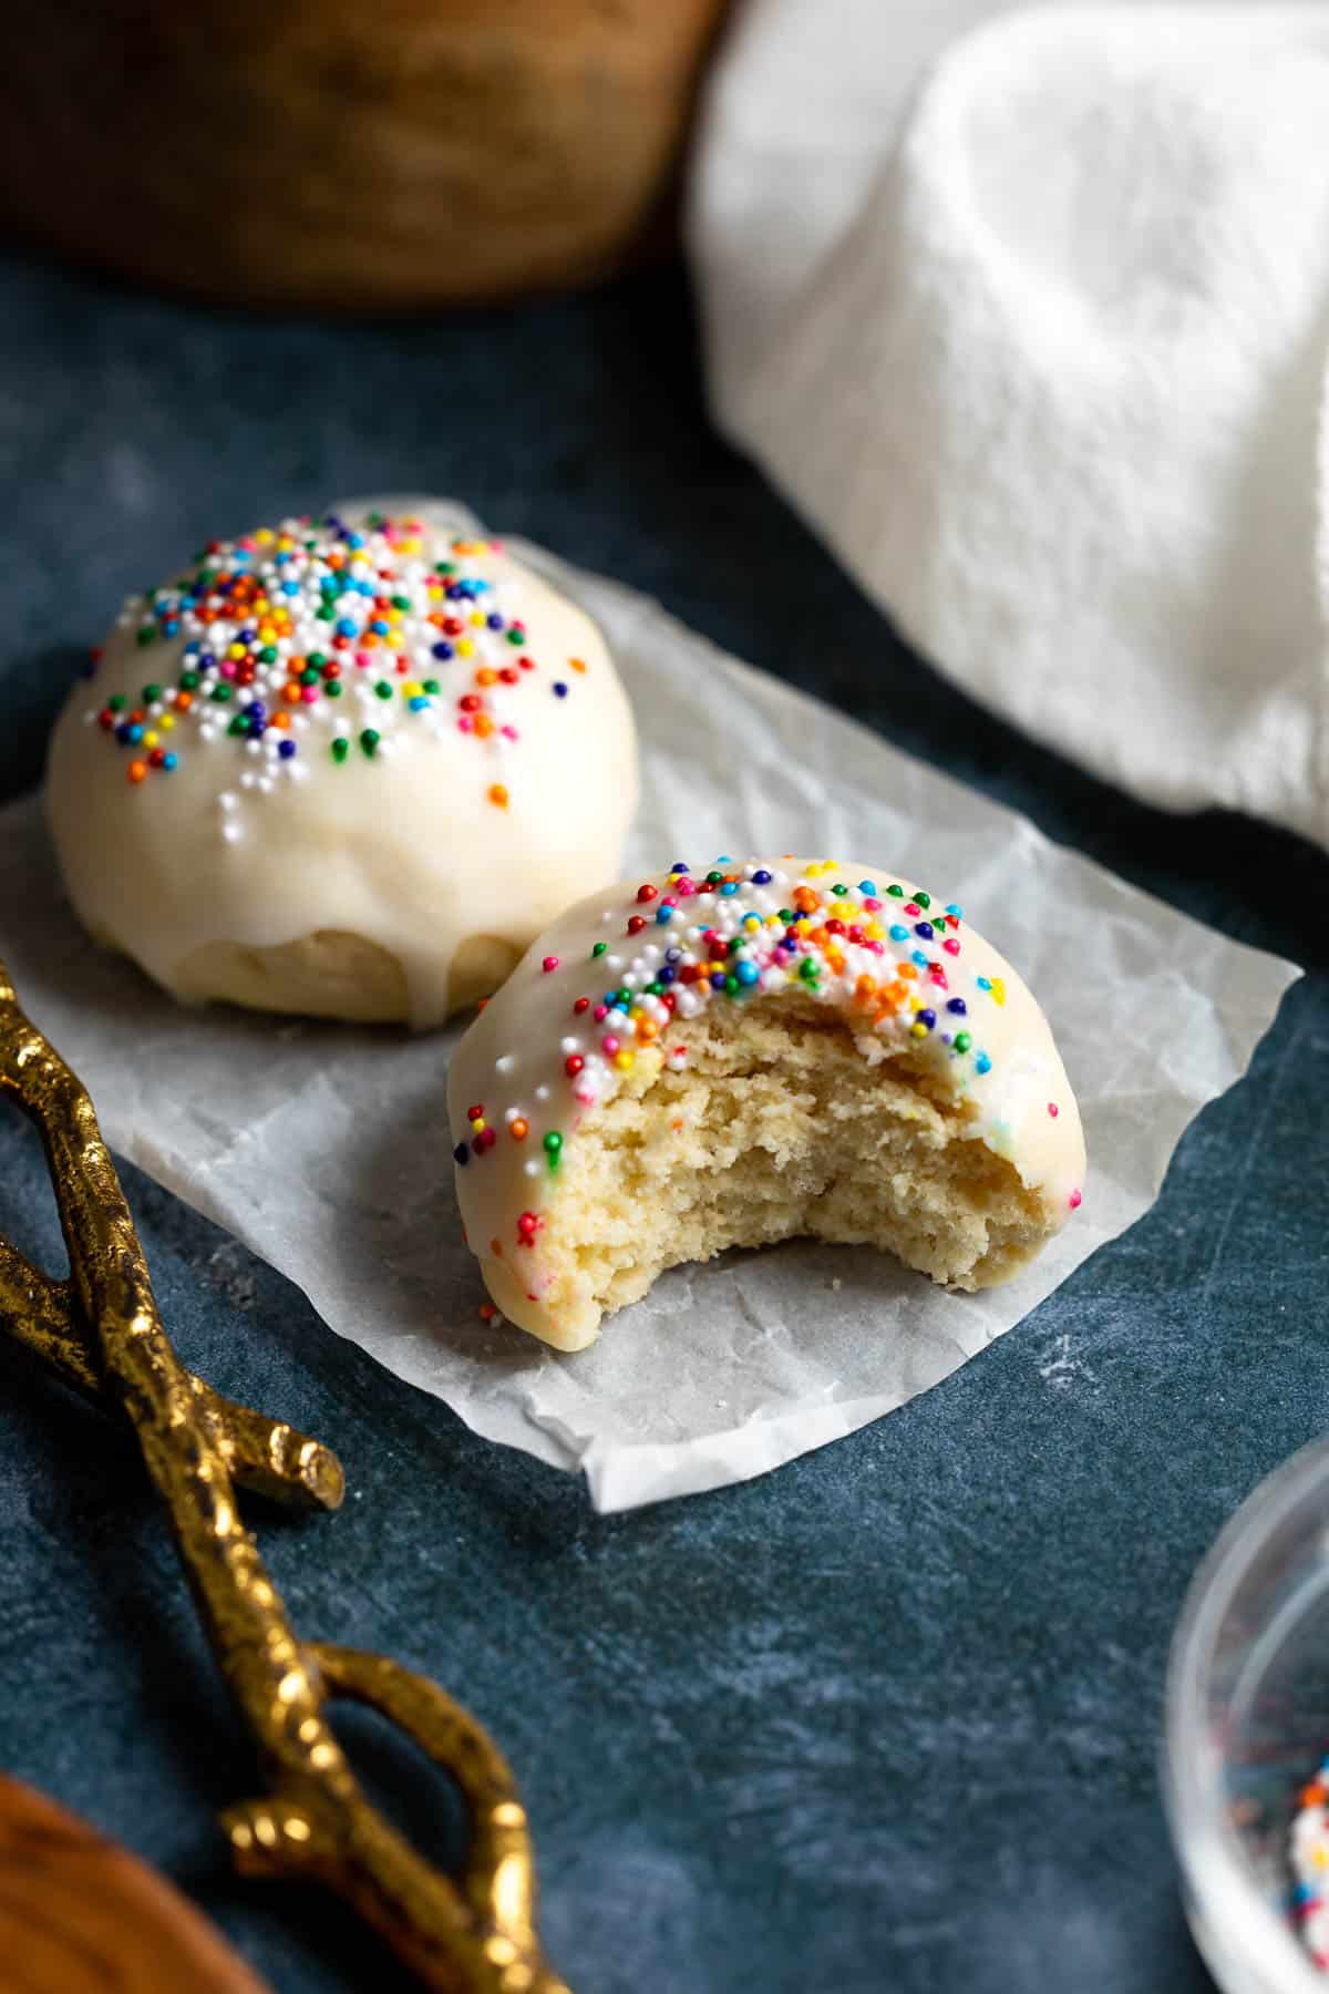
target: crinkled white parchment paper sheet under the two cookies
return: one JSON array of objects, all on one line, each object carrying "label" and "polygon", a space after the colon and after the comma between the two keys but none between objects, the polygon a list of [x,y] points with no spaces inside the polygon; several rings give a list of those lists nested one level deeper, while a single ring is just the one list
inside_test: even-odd
[{"label": "crinkled white parchment paper sheet under the two cookies", "polygon": [[679,1268],[594,1350],[546,1350],[478,1318],[442,1109],[456,1031],[177,1007],[76,927],[32,800],[0,814],[0,947],[122,1155],[476,1432],[582,1468],[600,1509],[626,1509],[837,1440],[1028,1314],[1148,1208],[1297,971],[1050,845],[628,588],[516,552],[586,604],[624,672],[646,776],[634,865],[807,851],[899,869],[962,901],[1028,977],[1080,1097],[1090,1174],[1022,1280],[954,1296],[867,1248],[799,1242]]}]

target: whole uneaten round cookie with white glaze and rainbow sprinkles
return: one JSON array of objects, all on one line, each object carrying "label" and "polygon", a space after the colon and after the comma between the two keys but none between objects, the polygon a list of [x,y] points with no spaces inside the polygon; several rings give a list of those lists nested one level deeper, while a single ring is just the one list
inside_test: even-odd
[{"label": "whole uneaten round cookie with white glaze and rainbow sprinkles", "polygon": [[414,512],[213,540],[56,724],[84,925],[181,999],[436,1025],[614,877],[636,734],[604,640]]}]

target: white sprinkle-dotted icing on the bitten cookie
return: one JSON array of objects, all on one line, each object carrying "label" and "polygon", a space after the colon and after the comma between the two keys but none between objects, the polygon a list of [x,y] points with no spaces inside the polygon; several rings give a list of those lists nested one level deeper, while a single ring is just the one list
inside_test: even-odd
[{"label": "white sprinkle-dotted icing on the bitten cookie", "polygon": [[[781,909],[805,921],[793,945]],[[827,919],[843,933],[823,929]],[[636,933],[630,921],[640,923]],[[679,981],[707,929],[723,939],[715,961],[737,933],[751,937],[725,957],[735,971],[725,991],[703,977]],[[681,963],[669,961],[671,947],[683,951]],[[667,987],[652,993],[662,973]],[[564,1145],[612,1099],[624,1065],[685,1067],[687,1019],[701,1007],[777,1001],[791,983],[853,1023],[869,1063],[907,1047],[934,1061],[952,1095],[978,1111],[966,1133],[1040,1194],[1050,1228],[1070,1216],[1084,1135],[1066,1069],[1026,985],[960,911],[879,867],[717,859],[689,877],[654,873],[582,899],[532,943],[456,1049],[448,1117],[458,1204],[506,1316],[576,1348],[542,1300],[542,1216],[558,1198]],[[606,1005],[612,989],[628,991],[630,1003]]]}]

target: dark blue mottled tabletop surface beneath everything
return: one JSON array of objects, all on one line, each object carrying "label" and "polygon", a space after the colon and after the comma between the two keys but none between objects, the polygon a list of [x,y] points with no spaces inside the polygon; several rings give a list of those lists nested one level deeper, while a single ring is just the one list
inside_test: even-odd
[{"label": "dark blue mottled tabletop surface beneath everything", "polygon": [[[126,1172],[187,1362],[347,1464],[339,1517],[261,1519],[297,1627],[426,1669],[496,1731],[578,1994],[1207,1988],[1158,1805],[1162,1675],[1199,1553],[1329,1414],[1329,861],[1134,806],[915,660],[707,427],[667,273],[321,327],[0,269],[0,457],[4,792],[40,770],[74,646],[197,540],[448,491],[1311,967],[1154,1212],[1036,1316],[839,1446],[608,1521]],[[10,1117],[0,1226],[58,1264]],[[133,1446],[0,1370],[0,1761],[163,1864],[281,1994],[391,1994],[339,1910],[229,1878],[213,1811],[251,1755]]]}]

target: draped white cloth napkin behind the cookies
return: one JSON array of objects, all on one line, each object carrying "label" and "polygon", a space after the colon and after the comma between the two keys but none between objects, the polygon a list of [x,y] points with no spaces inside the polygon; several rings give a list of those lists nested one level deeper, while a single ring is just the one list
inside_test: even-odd
[{"label": "draped white cloth napkin behind the cookies", "polygon": [[1329,8],[990,12],[739,14],[715,413],[988,706],[1329,841]]}]

